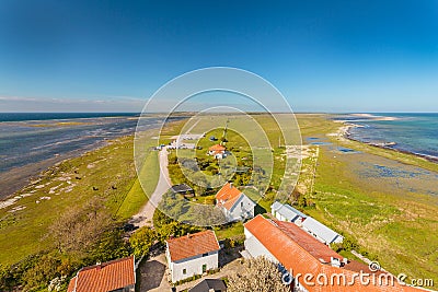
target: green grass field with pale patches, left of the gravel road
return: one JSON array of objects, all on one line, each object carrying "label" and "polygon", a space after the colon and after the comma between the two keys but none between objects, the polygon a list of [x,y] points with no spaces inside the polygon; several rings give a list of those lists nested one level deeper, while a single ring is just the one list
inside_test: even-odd
[{"label": "green grass field with pale patches, left of the gravel road", "polygon": [[[51,246],[47,230],[70,206],[83,206],[90,198],[104,199],[105,207],[120,220],[135,214],[147,201],[134,166],[132,137],[70,159],[43,173],[15,196],[15,205],[0,209],[0,264],[10,265]],[[157,153],[145,165],[158,168]],[[148,177],[147,189],[154,189],[155,176]],[[13,208],[24,207],[13,212]]]}]

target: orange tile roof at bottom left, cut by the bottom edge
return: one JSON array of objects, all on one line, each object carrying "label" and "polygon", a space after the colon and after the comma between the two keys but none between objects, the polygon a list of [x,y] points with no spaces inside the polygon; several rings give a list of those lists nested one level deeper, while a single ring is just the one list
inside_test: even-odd
[{"label": "orange tile roof at bottom left, cut by the bottom edge", "polygon": [[134,256],[85,267],[70,280],[68,292],[108,292],[136,283]]}]

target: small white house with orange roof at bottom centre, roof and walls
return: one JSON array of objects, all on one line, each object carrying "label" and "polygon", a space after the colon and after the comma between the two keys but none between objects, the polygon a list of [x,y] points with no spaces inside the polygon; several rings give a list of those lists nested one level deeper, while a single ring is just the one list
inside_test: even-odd
[{"label": "small white house with orange roof at bottom centre, roof and walls", "polygon": [[210,230],[166,241],[165,257],[172,282],[217,269],[219,249],[216,234]]}]

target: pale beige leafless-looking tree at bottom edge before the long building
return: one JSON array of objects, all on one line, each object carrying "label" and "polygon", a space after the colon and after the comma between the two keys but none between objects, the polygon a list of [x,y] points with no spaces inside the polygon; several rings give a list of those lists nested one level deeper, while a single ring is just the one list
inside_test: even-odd
[{"label": "pale beige leafless-looking tree at bottom edge before the long building", "polygon": [[244,260],[240,271],[229,278],[229,292],[290,292],[277,266],[265,257]]}]

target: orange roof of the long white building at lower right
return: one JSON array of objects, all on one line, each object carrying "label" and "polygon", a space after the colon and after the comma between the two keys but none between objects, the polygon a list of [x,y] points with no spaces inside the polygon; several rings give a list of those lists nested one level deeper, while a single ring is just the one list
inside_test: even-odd
[{"label": "orange roof of the long white building at lower right", "polygon": [[[295,223],[269,220],[257,215],[246,222],[244,226],[288,271],[292,271],[293,277],[300,273],[302,276],[300,278],[300,283],[309,291],[418,291],[418,289],[413,287],[401,285],[396,280],[394,280],[394,285],[374,285],[372,282],[371,284],[365,285],[356,275],[360,270],[367,273],[371,272],[368,266],[357,261],[351,260],[341,268],[324,264],[323,261],[330,260],[330,257],[339,259],[343,257],[316,238],[313,238]],[[325,287],[318,284],[309,285],[302,281],[303,276],[308,273],[314,277],[318,275],[325,275],[328,279],[332,275],[345,275],[346,282],[350,285],[339,284],[336,281]],[[313,282],[315,282],[314,278]]]}]

